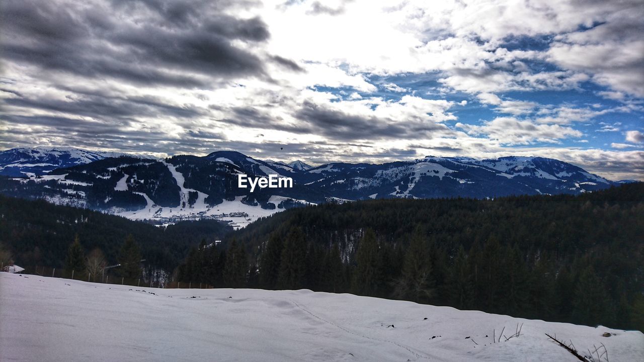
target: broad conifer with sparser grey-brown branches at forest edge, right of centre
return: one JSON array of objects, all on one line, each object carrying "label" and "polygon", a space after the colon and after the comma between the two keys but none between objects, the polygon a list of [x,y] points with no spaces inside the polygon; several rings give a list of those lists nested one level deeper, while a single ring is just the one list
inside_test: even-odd
[{"label": "broad conifer with sparser grey-brown branches at forest edge, right of centre", "polygon": [[424,231],[419,225],[405,254],[403,275],[396,283],[395,296],[417,303],[427,303],[433,296],[434,283],[430,250]]}]

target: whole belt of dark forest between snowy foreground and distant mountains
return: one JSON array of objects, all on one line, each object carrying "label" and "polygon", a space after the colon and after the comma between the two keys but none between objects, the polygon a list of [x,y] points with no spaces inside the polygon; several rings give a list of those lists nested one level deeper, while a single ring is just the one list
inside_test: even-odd
[{"label": "whole belt of dark forest between snowy foreground and distant mountains", "polygon": [[0,195],[0,258],[89,270],[99,252],[108,264],[144,258],[186,283],[350,292],[644,330],[643,183],[578,196],[321,204],[238,231],[215,220],[160,228]]}]

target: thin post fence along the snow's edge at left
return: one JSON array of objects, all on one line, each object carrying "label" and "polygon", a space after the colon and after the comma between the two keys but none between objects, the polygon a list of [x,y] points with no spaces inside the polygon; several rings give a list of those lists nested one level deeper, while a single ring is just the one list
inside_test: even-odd
[{"label": "thin post fence along the snow's edge at left", "polygon": [[[3,271],[3,268],[0,268]],[[48,276],[51,278],[62,278],[71,280],[90,281],[91,283],[129,285],[133,287],[168,288],[168,289],[213,289],[213,285],[207,283],[193,283],[184,281],[167,281],[149,273],[143,273],[142,278],[125,278],[118,276],[109,269],[90,271],[68,271],[61,268],[34,266],[24,269],[19,274]]]}]

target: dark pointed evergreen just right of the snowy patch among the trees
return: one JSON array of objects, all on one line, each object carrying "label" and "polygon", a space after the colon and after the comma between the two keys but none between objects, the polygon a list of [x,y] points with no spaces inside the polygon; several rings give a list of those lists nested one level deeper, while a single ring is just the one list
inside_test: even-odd
[{"label": "dark pointed evergreen just right of the snowy patch among the trees", "polygon": [[372,229],[366,229],[360,240],[355,262],[357,266],[352,287],[355,294],[378,296],[383,284],[383,258]]}]

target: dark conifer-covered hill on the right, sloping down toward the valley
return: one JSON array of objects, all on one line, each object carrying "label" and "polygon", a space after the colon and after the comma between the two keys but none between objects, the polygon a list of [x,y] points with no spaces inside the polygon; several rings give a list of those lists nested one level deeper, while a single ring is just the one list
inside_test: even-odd
[{"label": "dark conifer-covered hill on the right, sloping down toward the valley", "polygon": [[193,247],[178,278],[644,330],[642,183],[579,196],[323,204],[226,240]]}]

